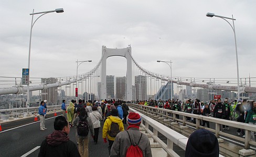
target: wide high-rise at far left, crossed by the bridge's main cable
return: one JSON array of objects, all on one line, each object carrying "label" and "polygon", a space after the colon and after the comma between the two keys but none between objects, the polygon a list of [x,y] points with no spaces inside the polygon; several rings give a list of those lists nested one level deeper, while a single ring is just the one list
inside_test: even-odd
[{"label": "wide high-rise at far left, crossed by the bridge's main cable", "polygon": [[[58,78],[50,77],[50,78],[41,78],[41,84],[52,84],[52,83],[57,83]],[[42,100],[47,100],[47,104],[56,104],[57,102],[57,97],[58,97],[58,91],[57,87],[52,87],[48,89],[44,89],[41,91],[42,94]]]}]

